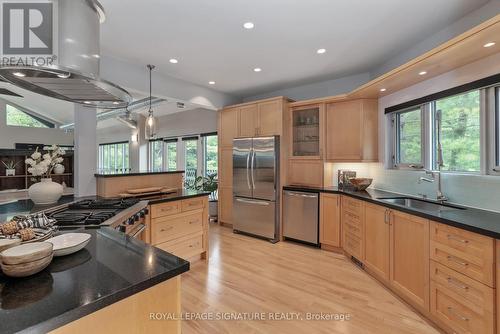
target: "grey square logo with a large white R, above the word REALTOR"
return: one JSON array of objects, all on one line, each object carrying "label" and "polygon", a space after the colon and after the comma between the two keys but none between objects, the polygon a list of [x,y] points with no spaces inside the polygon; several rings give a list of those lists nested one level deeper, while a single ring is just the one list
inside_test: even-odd
[{"label": "grey square logo with a large white R, above the word REALTOR", "polygon": [[53,54],[53,4],[4,2],[2,48],[4,55]]}]

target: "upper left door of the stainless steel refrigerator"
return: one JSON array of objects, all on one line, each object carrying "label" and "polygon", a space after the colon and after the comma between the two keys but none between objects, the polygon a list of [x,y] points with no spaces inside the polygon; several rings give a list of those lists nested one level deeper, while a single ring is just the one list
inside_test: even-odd
[{"label": "upper left door of the stainless steel refrigerator", "polygon": [[252,197],[251,158],[252,138],[233,140],[233,193],[235,196]]}]

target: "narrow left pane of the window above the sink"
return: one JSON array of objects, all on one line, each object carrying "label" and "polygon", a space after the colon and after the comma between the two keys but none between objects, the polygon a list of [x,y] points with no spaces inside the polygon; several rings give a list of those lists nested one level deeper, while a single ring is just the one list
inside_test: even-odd
[{"label": "narrow left pane of the window above the sink", "polygon": [[396,166],[423,166],[423,112],[413,108],[394,115]]}]

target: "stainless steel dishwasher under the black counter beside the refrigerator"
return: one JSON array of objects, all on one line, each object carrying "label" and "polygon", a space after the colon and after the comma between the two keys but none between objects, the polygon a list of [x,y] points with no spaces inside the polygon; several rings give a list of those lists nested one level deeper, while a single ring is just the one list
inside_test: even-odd
[{"label": "stainless steel dishwasher under the black counter beside the refrigerator", "polygon": [[285,190],[283,202],[283,236],[319,245],[319,194]]}]

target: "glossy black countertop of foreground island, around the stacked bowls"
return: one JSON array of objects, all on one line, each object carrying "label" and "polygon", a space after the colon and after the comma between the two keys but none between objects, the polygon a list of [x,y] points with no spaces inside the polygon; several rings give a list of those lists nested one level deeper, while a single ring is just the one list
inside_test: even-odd
[{"label": "glossy black countertop of foreground island, around the stacked bowls", "polygon": [[189,270],[189,262],[111,228],[81,232],[92,235],[85,249],[42,272],[0,274],[3,334],[46,333]]}]

